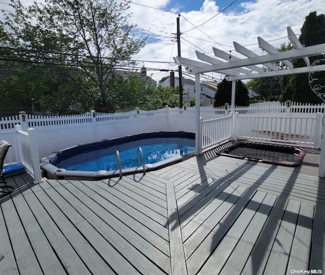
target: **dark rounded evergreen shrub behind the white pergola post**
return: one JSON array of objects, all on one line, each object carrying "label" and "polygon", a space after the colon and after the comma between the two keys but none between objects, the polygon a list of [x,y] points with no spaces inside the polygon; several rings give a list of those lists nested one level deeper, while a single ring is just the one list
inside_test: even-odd
[{"label": "dark rounded evergreen shrub behind the white pergola post", "polygon": [[[236,106],[249,106],[249,96],[248,90],[243,84],[242,81],[236,81],[236,90],[235,90],[235,105]],[[217,92],[214,96],[214,105],[213,107],[224,106],[224,104],[231,104],[232,100],[232,82],[223,79],[217,85]]]}]

